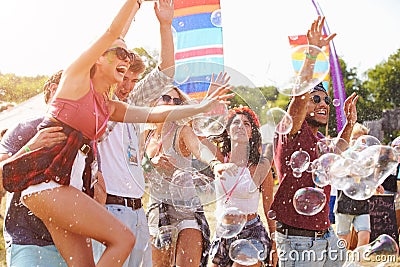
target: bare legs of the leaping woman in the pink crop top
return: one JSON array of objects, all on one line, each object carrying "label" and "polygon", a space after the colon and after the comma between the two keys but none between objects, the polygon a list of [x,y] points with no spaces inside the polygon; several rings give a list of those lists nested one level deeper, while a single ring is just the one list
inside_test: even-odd
[{"label": "bare legs of the leaping woman in the pink crop top", "polygon": [[86,237],[107,246],[99,267],[122,266],[135,245],[135,236],[121,221],[74,187],[41,191],[24,197],[24,203],[49,228],[69,266],[94,266]]}]

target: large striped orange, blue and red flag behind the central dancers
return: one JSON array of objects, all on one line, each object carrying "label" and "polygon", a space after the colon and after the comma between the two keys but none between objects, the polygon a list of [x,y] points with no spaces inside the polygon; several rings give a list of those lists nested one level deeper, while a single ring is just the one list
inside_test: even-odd
[{"label": "large striped orange, blue and red flag behind the central dancers", "polygon": [[219,0],[175,0],[175,85],[193,98],[207,92],[212,73],[224,71]]}]

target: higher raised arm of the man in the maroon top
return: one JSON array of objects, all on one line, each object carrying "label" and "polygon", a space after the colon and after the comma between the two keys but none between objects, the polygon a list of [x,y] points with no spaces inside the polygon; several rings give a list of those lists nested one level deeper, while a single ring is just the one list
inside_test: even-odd
[{"label": "higher raised arm of the man in the maroon top", "polygon": [[[323,26],[325,22],[325,17],[320,17],[311,24],[310,29],[307,31],[307,41],[309,45],[317,46],[322,48],[329,44],[329,42],[336,36],[335,33],[324,37],[323,36]],[[316,61],[316,57],[318,56],[319,51],[316,49],[310,48],[308,51],[308,55],[304,64],[300,70],[299,74],[299,82],[302,83],[304,81],[312,79],[314,72],[314,65]],[[294,96],[290,101],[288,107],[288,113],[293,119],[293,127],[290,131],[290,135],[295,135],[301,128],[303,124],[306,114],[307,114],[307,104],[310,98],[310,93],[306,92],[299,96]]]}]

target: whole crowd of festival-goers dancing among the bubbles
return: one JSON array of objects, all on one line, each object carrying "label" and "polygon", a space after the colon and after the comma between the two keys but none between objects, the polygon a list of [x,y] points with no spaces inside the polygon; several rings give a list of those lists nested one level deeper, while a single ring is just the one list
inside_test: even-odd
[{"label": "whole crowd of festival-goers dancing among the bubbles", "polygon": [[[354,214],[345,213],[337,207],[353,201],[341,191],[331,198],[327,185],[322,192],[328,202],[318,213],[300,214],[293,205],[299,189],[315,187],[311,172],[297,177],[287,162],[296,151],[307,152],[310,162],[320,156],[319,128],[327,125],[331,104],[322,84],[291,97],[287,113],[293,125],[274,135],[268,157],[262,154],[258,115],[247,106],[228,110],[222,133],[199,137],[191,118],[229,105],[234,96],[229,74],[215,79],[213,74],[200,103],[174,85],[173,0],[159,0],[154,3],[159,62],[139,79],[145,64],[123,38],[140,5],[126,0],[107,30],[48,79],[46,114],[16,124],[2,137],[7,265],[342,266],[347,250],[339,238],[350,243],[351,224],[358,245],[368,244],[367,201],[355,203]],[[310,49],[300,82],[312,79],[319,53],[312,47],[324,47],[336,35],[324,35],[323,25],[318,17],[307,32]],[[365,130],[357,123],[357,100],[353,93],[344,102],[346,122],[338,134],[350,144],[357,129]],[[392,142],[399,145],[398,139]],[[214,229],[201,197],[187,189],[197,186],[193,159],[208,169]],[[398,168],[392,176],[377,191],[396,194]],[[143,203],[146,183],[149,203]],[[240,240],[249,241],[257,257],[249,259],[245,250],[233,255]],[[293,257],[304,251],[314,259]]]}]

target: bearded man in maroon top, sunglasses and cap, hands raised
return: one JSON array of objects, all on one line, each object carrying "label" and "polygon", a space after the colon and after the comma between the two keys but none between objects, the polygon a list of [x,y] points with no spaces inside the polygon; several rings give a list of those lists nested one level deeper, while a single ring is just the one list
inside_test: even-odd
[{"label": "bearded man in maroon top, sunglasses and cap, hands raised", "polygon": [[[318,17],[310,30],[307,39],[310,45],[324,47],[335,34],[323,36],[324,18]],[[309,48],[299,77],[304,81],[312,78],[318,51]],[[347,118],[340,137],[349,141],[351,129],[357,113],[355,94],[344,103]],[[317,142],[323,135],[318,131],[328,123],[330,98],[322,84],[302,95],[294,96],[288,105],[288,113],[293,119],[289,133],[280,133],[275,137],[274,164],[279,178],[279,188],[275,193],[271,210],[276,214],[275,240],[279,266],[342,266],[346,259],[346,250],[338,246],[338,237],[329,222],[330,186],[323,188],[327,203],[323,210],[315,215],[299,214],[293,206],[293,197],[297,190],[315,187],[312,175],[303,172],[301,177],[293,174],[287,164],[296,151],[306,151],[310,162],[317,157]]]}]

